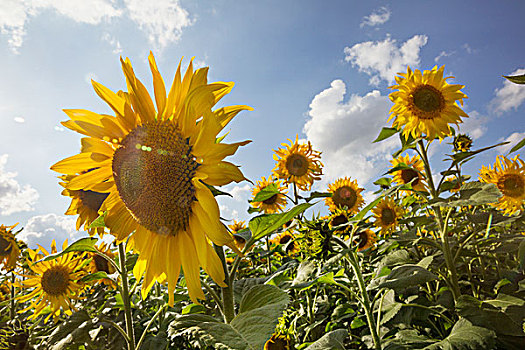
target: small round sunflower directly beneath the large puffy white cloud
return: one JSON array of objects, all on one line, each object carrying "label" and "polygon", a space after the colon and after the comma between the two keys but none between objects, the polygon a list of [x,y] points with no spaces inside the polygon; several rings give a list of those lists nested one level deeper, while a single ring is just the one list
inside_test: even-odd
[{"label": "small round sunflower directly beneath the large puffy white cloud", "polygon": [[346,209],[349,214],[355,214],[364,203],[361,195],[363,191],[364,189],[359,188],[356,180],[352,181],[348,177],[343,177],[328,185],[328,192],[332,196],[325,198],[325,203],[331,212]]}]

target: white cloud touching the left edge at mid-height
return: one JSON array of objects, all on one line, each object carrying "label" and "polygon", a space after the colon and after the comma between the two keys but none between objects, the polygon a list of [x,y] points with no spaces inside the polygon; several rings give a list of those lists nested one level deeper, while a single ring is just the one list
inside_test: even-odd
[{"label": "white cloud touching the left edge at mid-height", "polygon": [[21,186],[15,179],[17,173],[7,172],[7,154],[0,156],[0,215],[33,211],[38,192],[31,185]]}]

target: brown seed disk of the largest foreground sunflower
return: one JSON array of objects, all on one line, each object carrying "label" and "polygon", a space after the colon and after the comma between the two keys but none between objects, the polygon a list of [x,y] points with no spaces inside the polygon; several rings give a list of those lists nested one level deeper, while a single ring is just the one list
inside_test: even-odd
[{"label": "brown seed disk of the largest foreground sunflower", "polygon": [[131,131],[115,151],[113,177],[120,198],[142,226],[159,234],[185,230],[192,213],[192,178],[199,164],[189,140],[170,122]]}]

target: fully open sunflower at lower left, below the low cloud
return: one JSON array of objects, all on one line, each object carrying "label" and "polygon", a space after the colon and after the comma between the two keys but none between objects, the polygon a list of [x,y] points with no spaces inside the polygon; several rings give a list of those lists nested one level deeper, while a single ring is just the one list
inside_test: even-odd
[{"label": "fully open sunflower at lower left, below the low cloud", "polygon": [[[62,249],[66,249],[66,247],[67,240],[64,241]],[[56,242],[53,240],[51,254],[56,252]],[[29,316],[29,319],[35,319],[49,306],[51,313],[46,317],[46,322],[51,316],[56,320],[61,309],[70,315],[71,310],[75,310],[73,300],[80,299],[80,294],[84,289],[84,285],[80,282],[80,279],[86,274],[83,269],[83,254],[66,253],[54,260],[35,262],[35,260],[48,256],[47,250],[40,246],[37,251],[28,249],[28,253],[31,261],[28,259],[27,262],[33,274],[23,275],[26,279],[21,283],[25,288],[34,289],[16,299],[20,302],[34,300],[31,301],[31,305],[20,312],[35,308],[34,313]]]}]

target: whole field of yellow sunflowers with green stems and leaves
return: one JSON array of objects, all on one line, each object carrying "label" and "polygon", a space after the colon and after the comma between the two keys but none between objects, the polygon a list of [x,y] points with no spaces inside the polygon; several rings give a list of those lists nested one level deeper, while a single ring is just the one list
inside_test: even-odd
[{"label": "whole field of yellow sunflowers with green stems and leaves", "polygon": [[[461,133],[444,66],[395,78],[374,143],[401,148],[366,201],[352,166],[312,191],[322,154],[298,137],[246,179],[225,159],[250,141],[224,129],[252,108],[215,107],[233,82],[190,62],[167,87],[150,55],[148,92],[121,63],[125,89],[93,82],[113,114],[65,110],[81,147],[51,166],[89,236],[30,249],[0,226],[0,349],[525,348],[525,140],[463,171],[501,144]],[[226,221],[216,197],[243,181],[250,219]]]}]

